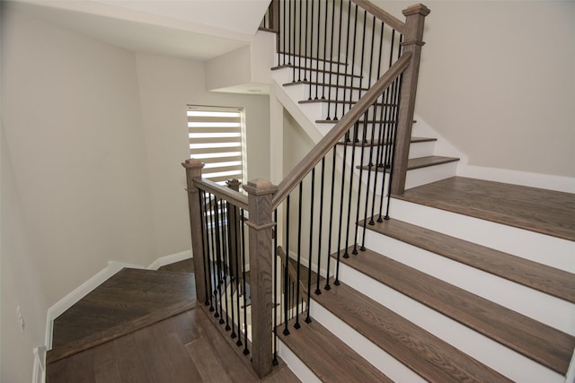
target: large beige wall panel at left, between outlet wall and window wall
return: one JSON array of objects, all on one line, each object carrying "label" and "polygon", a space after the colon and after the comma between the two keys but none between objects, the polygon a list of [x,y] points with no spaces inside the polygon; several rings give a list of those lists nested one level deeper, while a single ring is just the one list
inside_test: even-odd
[{"label": "large beige wall panel at left, between outlet wall and window wall", "polygon": [[107,265],[155,259],[135,59],[4,12],[3,117],[49,304]]}]

